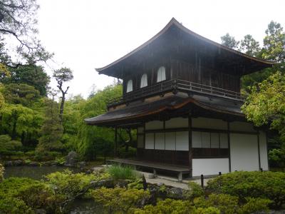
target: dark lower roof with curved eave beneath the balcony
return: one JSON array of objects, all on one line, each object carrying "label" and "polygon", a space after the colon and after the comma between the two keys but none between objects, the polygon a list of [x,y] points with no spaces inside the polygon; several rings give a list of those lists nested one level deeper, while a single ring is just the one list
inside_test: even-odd
[{"label": "dark lower roof with curved eave beneath the balcony", "polygon": [[107,113],[86,118],[88,125],[94,126],[127,126],[135,124],[136,121],[149,120],[152,116],[173,115],[175,112],[190,113],[191,108],[200,108],[204,111],[212,111],[225,115],[232,115],[244,118],[241,111],[242,103],[225,101],[222,98],[207,98],[205,96],[183,96],[181,94],[160,98],[158,101],[136,103]]}]

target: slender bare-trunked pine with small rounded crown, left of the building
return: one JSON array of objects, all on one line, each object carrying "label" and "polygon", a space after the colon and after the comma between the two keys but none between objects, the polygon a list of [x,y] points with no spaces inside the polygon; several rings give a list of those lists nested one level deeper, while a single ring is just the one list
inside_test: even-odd
[{"label": "slender bare-trunked pine with small rounded crown, left of the building", "polygon": [[53,77],[56,78],[58,83],[57,87],[61,91],[61,107],[59,108],[59,118],[63,121],[63,108],[64,102],[66,101],[66,93],[68,92],[69,86],[63,88],[63,83],[71,81],[73,79],[73,72],[71,68],[60,68],[53,71]]}]

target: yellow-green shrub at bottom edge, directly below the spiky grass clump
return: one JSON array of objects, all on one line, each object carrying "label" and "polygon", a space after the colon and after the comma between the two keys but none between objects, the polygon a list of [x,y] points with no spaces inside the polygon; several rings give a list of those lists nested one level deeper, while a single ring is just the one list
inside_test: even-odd
[{"label": "yellow-green shrub at bottom edge, directly below the spiky grass clump", "polygon": [[125,188],[100,188],[93,190],[91,195],[98,203],[104,205],[109,213],[130,213],[140,206],[142,200],[147,200],[150,193],[145,190]]}]

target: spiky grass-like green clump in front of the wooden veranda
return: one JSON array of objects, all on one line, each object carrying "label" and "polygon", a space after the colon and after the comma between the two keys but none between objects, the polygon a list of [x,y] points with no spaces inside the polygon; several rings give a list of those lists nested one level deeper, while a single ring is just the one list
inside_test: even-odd
[{"label": "spiky grass-like green clump in front of the wooden veranda", "polygon": [[114,180],[138,178],[138,173],[130,166],[111,165],[107,171]]}]

